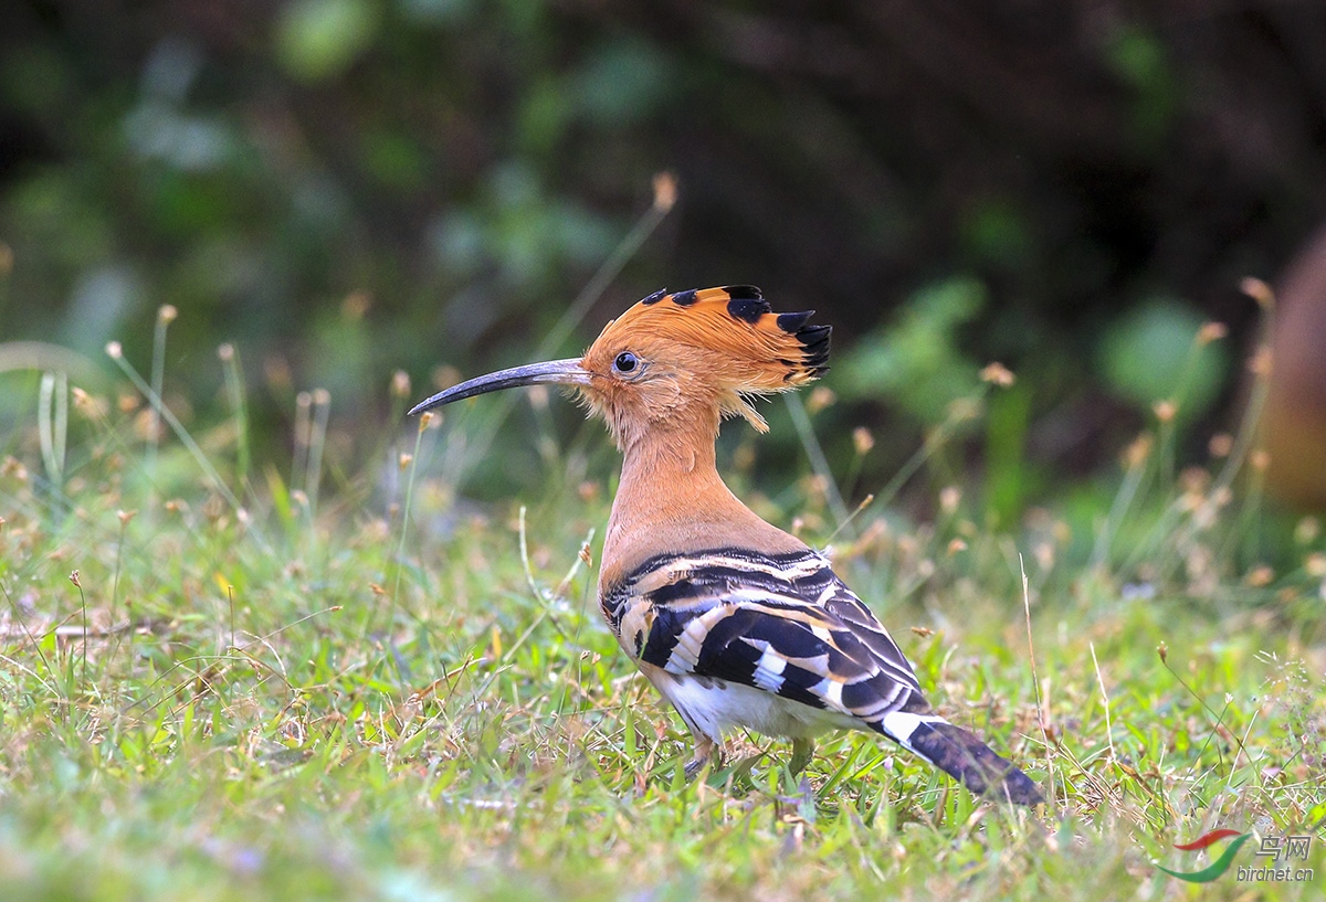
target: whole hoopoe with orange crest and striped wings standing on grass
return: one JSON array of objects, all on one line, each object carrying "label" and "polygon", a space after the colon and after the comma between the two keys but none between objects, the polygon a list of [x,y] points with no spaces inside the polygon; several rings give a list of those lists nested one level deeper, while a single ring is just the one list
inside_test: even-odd
[{"label": "whole hoopoe with orange crest and striped wings standing on grass", "polygon": [[1038,805],[1037,784],[940,717],[915,669],[830,560],[761,519],[724,483],[724,417],[758,432],[760,396],[829,367],[830,326],[774,313],[760,289],[655,291],[579,358],[479,376],[410,415],[520,385],[562,385],[623,454],[599,562],[598,603],[618,644],[680,714],[695,779],[744,727],[792,739],[793,774],[830,730],[882,734],[993,801]]}]

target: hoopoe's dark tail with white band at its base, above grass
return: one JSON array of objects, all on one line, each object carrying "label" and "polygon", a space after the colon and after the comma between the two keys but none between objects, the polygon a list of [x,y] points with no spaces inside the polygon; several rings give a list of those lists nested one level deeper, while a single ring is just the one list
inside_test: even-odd
[{"label": "hoopoe's dark tail with white band at its base, above grass", "polygon": [[1018,805],[1040,805],[1045,801],[1026,774],[1000,758],[971,731],[953,726],[936,714],[892,711],[884,715],[878,728],[903,748],[945,771],[977,796]]}]

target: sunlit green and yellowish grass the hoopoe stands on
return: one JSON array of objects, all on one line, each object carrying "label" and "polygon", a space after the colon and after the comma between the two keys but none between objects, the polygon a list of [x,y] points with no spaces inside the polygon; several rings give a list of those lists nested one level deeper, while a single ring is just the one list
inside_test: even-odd
[{"label": "sunlit green and yellowish grass the hoopoe stands on", "polygon": [[[1313,519],[1276,538],[1246,441],[1175,473],[1162,420],[1103,507],[1065,497],[997,532],[947,489],[932,519],[876,502],[834,539],[931,698],[1045,787],[1032,815],[866,735],[801,780],[785,744],[736,736],[735,767],[687,784],[684,728],[594,603],[597,425],[545,430],[541,487],[481,507],[455,482],[480,405],[370,442],[391,465],[346,477],[310,396],[282,476],[223,364],[236,416],[196,437],[141,434],[160,374],[7,437],[5,899],[1321,893],[1326,540]],[[789,476],[756,506],[822,543],[830,495]],[[1207,865],[1172,845],[1216,827],[1313,836],[1294,864],[1315,879],[1199,890],[1155,868]],[[1237,864],[1266,864],[1257,842]]]}]

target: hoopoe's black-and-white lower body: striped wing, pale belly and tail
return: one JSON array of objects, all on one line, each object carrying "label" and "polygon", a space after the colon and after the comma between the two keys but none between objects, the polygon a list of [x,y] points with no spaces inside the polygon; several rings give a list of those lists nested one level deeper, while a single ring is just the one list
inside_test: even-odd
[{"label": "hoopoe's black-and-white lower body: striped wing, pale belly and tail", "polygon": [[1044,801],[1025,774],[934,713],[892,637],[814,551],[659,555],[601,604],[697,748],[721,744],[727,727],[806,750],[830,728],[874,730],[979,796]]}]

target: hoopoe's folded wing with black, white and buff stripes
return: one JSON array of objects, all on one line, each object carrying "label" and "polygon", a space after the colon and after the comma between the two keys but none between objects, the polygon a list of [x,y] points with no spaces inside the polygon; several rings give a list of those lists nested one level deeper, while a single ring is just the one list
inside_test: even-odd
[{"label": "hoopoe's folded wing with black, white and buff stripes", "polygon": [[809,550],[660,555],[605,595],[603,609],[636,660],[676,676],[753,686],[875,730],[894,711],[930,713],[892,637]]}]

